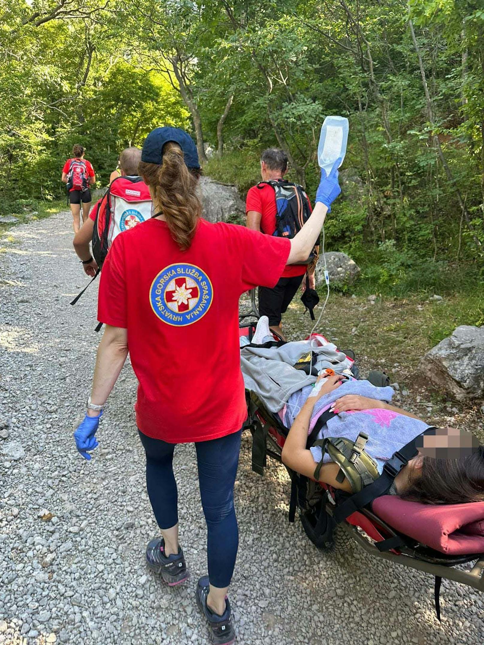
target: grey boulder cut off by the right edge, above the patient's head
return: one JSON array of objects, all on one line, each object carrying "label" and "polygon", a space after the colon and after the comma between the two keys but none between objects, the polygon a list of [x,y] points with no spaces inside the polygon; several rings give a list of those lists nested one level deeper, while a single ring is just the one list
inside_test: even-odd
[{"label": "grey boulder cut off by the right edge, above the patient's head", "polygon": [[420,362],[427,382],[458,401],[484,397],[484,327],[463,324]]}]

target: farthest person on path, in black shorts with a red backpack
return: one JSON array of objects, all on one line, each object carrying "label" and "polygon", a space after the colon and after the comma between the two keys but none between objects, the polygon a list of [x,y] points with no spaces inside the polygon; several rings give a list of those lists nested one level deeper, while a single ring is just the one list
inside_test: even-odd
[{"label": "farthest person on path, in black shorts with a red backpack", "polygon": [[94,168],[84,158],[84,148],[76,144],[72,148],[72,157],[62,169],[62,181],[69,190],[69,203],[72,212],[72,228],[77,233],[81,228],[81,202],[83,204],[83,222],[86,221],[91,207],[92,197],[89,186],[96,182]]}]

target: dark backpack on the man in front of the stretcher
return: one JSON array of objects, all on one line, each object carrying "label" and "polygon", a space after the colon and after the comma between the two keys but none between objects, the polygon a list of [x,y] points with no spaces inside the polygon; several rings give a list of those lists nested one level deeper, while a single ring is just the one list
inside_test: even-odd
[{"label": "dark backpack on the man in front of the stretcher", "polygon": [[[261,181],[257,184],[257,188],[262,190],[264,184],[272,186],[276,195],[276,230],[272,235],[292,239],[311,214],[307,194],[301,186],[285,181],[285,179]],[[310,264],[315,257],[316,250],[313,248],[307,260],[295,264]]]}]

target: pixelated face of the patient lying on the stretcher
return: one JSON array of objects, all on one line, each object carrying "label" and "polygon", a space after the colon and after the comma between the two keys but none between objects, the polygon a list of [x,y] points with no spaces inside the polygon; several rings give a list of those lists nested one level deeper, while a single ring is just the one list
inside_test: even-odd
[{"label": "pixelated face of the patient lying on the stretcher", "polygon": [[479,448],[479,440],[470,432],[457,428],[436,428],[415,441],[421,455],[432,459],[461,459]]}]

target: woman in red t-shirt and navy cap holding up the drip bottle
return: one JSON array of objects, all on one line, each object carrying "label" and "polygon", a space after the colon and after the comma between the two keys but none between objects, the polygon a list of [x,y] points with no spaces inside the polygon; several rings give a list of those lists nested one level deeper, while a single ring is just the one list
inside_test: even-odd
[{"label": "woman in red t-shirt and navy cap holding up the drip bottle", "polygon": [[129,351],[139,381],[136,421],[146,453],[146,486],[162,537],[146,548],[148,567],[170,585],[187,580],[178,542],[176,444],[194,442],[208,528],[208,576],[197,604],[213,643],[235,639],[227,590],[238,546],[234,510],[241,427],[247,417],[240,370],[239,297],[274,286],[283,267],[307,257],[340,189],[337,166],[319,185],[312,217],[291,240],[201,219],[196,146],[177,128],[146,137],[139,174],[155,215],[118,235],[99,285],[106,330],[77,450],[90,459],[102,408]]}]

